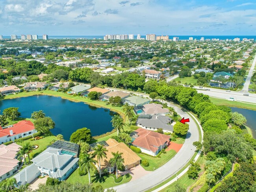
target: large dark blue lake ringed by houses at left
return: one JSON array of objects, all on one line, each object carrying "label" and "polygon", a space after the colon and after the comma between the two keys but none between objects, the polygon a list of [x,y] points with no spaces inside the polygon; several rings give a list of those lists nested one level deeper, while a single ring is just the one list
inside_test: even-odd
[{"label": "large dark blue lake ringed by houses at left", "polygon": [[1,114],[8,107],[19,107],[20,117],[23,118],[30,118],[33,111],[43,110],[55,122],[55,128],[51,132],[54,135],[63,135],[65,140],[69,140],[74,131],[83,127],[91,129],[92,136],[111,131],[111,117],[116,114],[109,109],[48,95],[0,101]]}]

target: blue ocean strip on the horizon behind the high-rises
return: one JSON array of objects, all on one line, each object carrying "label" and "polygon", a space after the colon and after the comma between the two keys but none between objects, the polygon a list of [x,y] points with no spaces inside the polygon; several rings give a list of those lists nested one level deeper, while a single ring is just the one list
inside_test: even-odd
[{"label": "blue ocean strip on the horizon behind the high-rises", "polygon": [[[162,35],[162,34],[160,34]],[[160,36],[157,35],[157,36]],[[165,35],[165,34],[163,34]],[[10,39],[11,36],[3,36],[4,39]],[[103,39],[104,35],[48,35],[49,39]],[[199,40],[201,37],[204,37],[204,39],[220,39],[220,40],[226,40],[226,39],[234,39],[234,38],[240,38],[242,40],[243,38],[247,39],[256,39],[256,35],[169,35],[169,39],[173,39],[173,37],[179,37],[180,40],[188,40],[189,37],[193,37],[193,39]],[[43,39],[42,36],[38,36],[39,39]],[[134,35],[134,39],[137,38],[137,35]],[[141,38],[146,38],[146,35],[141,35]],[[18,36],[18,39],[20,39],[20,36]]]}]

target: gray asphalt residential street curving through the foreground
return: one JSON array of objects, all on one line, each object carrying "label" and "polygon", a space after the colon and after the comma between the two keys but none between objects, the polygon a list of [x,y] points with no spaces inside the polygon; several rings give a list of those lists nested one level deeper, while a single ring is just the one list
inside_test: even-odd
[{"label": "gray asphalt residential street curving through the foreground", "polygon": [[[190,118],[186,112],[182,111],[176,105],[171,103],[168,103],[168,105],[174,107],[181,117]],[[195,141],[199,141],[199,132],[197,124],[190,118],[187,138],[180,151],[170,161],[156,169],[154,172],[134,181],[115,186],[114,189],[117,190],[117,192],[141,192],[162,183],[169,177],[175,175],[176,172],[189,162],[196,150],[195,146],[193,146],[193,142]]]}]

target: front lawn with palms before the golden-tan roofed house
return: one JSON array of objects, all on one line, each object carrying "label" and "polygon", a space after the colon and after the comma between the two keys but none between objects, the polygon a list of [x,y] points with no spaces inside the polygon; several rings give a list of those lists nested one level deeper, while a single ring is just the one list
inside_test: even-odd
[{"label": "front lawn with palms before the golden-tan roofed house", "polygon": [[[88,174],[80,176],[79,175],[79,168],[77,168],[67,179],[67,182],[70,183],[82,183],[82,184],[88,184],[89,183],[89,177]],[[122,181],[120,183],[115,183],[114,178],[113,177],[109,177],[108,175],[104,175],[101,179],[101,183],[98,182],[98,180],[95,177],[95,174],[92,170],[90,170],[90,174],[91,174],[91,183],[93,186],[96,185],[101,185],[103,188],[109,188],[109,187],[113,187],[113,186],[117,186],[117,185],[121,185],[124,183],[129,182],[132,179],[132,176],[130,174],[124,175],[122,176]]]}]

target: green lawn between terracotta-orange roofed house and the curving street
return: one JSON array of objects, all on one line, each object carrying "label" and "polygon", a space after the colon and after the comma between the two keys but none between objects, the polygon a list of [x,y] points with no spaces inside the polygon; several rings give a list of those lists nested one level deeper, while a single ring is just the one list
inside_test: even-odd
[{"label": "green lawn between terracotta-orange roofed house and the curving street", "polygon": [[147,159],[149,162],[149,166],[145,167],[141,164],[141,166],[146,170],[146,171],[154,171],[154,168],[157,169],[161,167],[163,164],[165,164],[167,161],[169,161],[173,156],[176,154],[176,151],[170,150],[166,151],[165,154],[161,154],[161,158],[159,157],[151,157],[145,154],[137,153],[139,157],[141,157],[142,160]]}]

